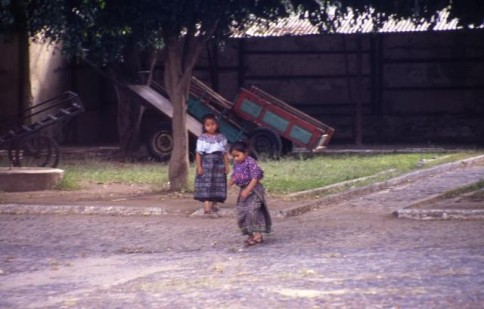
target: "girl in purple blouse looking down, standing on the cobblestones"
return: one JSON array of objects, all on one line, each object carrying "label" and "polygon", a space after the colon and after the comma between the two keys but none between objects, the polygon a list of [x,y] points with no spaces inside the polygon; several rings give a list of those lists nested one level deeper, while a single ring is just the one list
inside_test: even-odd
[{"label": "girl in purple blouse looking down, standing on the cobblestones", "polygon": [[237,198],[237,224],[243,235],[248,235],[246,246],[263,242],[262,233],[270,233],[272,219],[264,198],[264,187],[260,180],[264,171],[257,161],[249,155],[248,145],[236,142],[230,148],[234,159],[232,176],[229,186],[240,187]]}]

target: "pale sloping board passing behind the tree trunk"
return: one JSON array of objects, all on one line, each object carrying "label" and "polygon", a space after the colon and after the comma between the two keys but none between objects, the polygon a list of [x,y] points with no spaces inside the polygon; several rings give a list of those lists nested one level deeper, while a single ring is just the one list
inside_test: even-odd
[{"label": "pale sloping board passing behind the tree trunk", "polygon": [[[173,105],[158,91],[146,85],[128,85],[128,87],[157,110],[173,118]],[[202,124],[190,115],[187,115],[187,129],[197,137],[202,134]]]}]

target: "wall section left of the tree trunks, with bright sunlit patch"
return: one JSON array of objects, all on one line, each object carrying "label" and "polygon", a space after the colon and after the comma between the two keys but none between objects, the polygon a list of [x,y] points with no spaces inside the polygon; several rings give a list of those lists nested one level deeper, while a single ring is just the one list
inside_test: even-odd
[{"label": "wall section left of the tree trunks, with bright sunlit patch", "polygon": [[[43,129],[43,134],[53,137],[61,144],[116,143],[116,102],[109,83],[91,68],[71,63],[63,57],[60,45],[30,42],[29,57],[33,105],[70,90],[80,95],[86,108],[84,113],[67,123]],[[18,42],[2,43],[0,120],[13,117],[23,110],[21,86]],[[43,116],[45,115],[39,114],[33,121]]]}]

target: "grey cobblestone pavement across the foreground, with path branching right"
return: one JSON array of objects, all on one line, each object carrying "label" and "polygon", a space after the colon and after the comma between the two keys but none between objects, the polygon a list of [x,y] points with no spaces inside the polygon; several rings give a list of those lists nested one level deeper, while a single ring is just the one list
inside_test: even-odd
[{"label": "grey cobblestone pavement across the foreground, with path branching right", "polygon": [[482,175],[276,218],[249,248],[233,217],[1,215],[0,307],[482,308],[484,222],[391,215]]}]

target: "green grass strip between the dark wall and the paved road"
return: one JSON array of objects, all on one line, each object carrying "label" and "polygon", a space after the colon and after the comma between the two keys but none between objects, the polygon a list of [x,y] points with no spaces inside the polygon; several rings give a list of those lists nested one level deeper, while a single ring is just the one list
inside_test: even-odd
[{"label": "green grass strip between the dark wall and the paved road", "polygon": [[[371,177],[356,185],[382,181],[404,173],[461,160],[482,152],[410,153],[410,154],[324,154],[307,157],[261,160],[264,186],[269,193],[285,194],[314,189],[334,183]],[[168,166],[164,163],[120,163],[106,160],[61,161],[65,170],[59,189],[82,187],[85,183],[148,184],[168,187]],[[193,183],[194,165],[190,168]],[[188,188],[193,190],[193,185]]]}]

